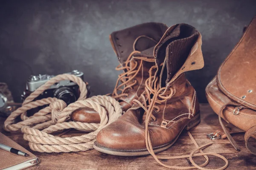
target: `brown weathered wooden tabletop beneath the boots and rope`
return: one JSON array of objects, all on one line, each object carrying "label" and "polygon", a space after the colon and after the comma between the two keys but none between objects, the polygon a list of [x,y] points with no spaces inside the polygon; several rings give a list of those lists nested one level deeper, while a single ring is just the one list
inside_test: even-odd
[{"label": "brown weathered wooden tabletop beneath the boots and rope", "polygon": [[[0,125],[3,125],[4,119],[0,118]],[[206,134],[211,133],[221,126],[218,122],[218,116],[215,114],[208,104],[201,104],[201,123],[190,130],[192,136],[195,138],[199,146],[210,142]],[[0,131],[6,136],[9,136],[15,142],[29,149],[27,141],[23,140],[22,134],[7,133],[1,127]],[[214,144],[204,149],[207,151],[227,151],[234,153],[222,153],[229,161],[228,170],[252,170],[256,169],[256,156],[251,154],[244,145],[244,133],[237,133],[233,135],[236,142],[241,147],[241,151],[236,151],[227,139],[212,140]],[[251,143],[256,146],[256,141],[251,139]],[[183,154],[190,154],[195,149],[195,145],[189,138],[186,131],[181,133],[177,142],[168,150],[157,155],[161,156],[178,156]],[[100,153],[94,149],[85,152],[75,153],[38,153],[33,152],[40,159],[40,164],[31,167],[31,170],[78,170],[78,169],[167,169],[159,165],[151,155],[148,156],[113,156],[105,153]],[[205,161],[202,157],[195,157],[195,162],[201,164]],[[162,160],[163,163],[176,166],[192,165],[189,159],[176,160]],[[223,166],[223,160],[209,156],[209,164],[206,168],[217,168]]]}]

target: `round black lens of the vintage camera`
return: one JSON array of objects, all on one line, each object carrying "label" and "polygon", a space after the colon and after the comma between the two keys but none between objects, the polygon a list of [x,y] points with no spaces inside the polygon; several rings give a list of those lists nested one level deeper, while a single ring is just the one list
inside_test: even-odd
[{"label": "round black lens of the vintage camera", "polygon": [[70,103],[76,102],[76,95],[69,87],[61,87],[54,91],[54,97],[63,100],[69,105]]}]

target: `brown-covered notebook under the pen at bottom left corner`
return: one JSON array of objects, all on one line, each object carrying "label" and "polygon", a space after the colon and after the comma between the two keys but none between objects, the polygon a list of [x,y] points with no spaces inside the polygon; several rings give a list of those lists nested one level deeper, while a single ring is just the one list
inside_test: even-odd
[{"label": "brown-covered notebook under the pen at bottom left corner", "polygon": [[39,163],[38,157],[5,136],[3,133],[0,133],[0,143],[29,154],[29,156],[19,156],[15,153],[0,149],[0,170],[23,170]]}]

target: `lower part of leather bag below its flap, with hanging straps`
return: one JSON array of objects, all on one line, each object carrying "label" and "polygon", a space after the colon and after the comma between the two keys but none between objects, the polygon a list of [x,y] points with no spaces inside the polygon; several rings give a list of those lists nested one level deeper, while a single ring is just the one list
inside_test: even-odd
[{"label": "lower part of leather bag below its flap, with hanging straps", "polygon": [[[234,102],[219,90],[216,78],[212,79],[212,81],[207,85],[206,96],[212,110],[219,115],[219,122],[221,124],[222,131],[216,131],[220,131],[219,134],[221,135],[222,139],[227,137],[232,146],[236,150],[240,150],[239,145],[235,142],[230,134],[244,132],[249,130],[250,127],[253,127],[256,124],[256,111],[250,108],[243,108],[239,110],[239,114],[235,115],[233,112],[236,109],[236,106],[240,106],[241,104]],[[235,113],[237,113],[237,111],[235,111]],[[224,126],[221,117],[229,122],[229,124],[232,124],[241,130],[234,130],[235,128],[231,127],[229,124],[228,127],[230,127],[230,129],[228,129],[227,126]],[[255,134],[250,134],[250,137],[256,139]],[[255,150],[255,148],[252,146],[248,148],[252,153],[254,152],[253,150]]]}]

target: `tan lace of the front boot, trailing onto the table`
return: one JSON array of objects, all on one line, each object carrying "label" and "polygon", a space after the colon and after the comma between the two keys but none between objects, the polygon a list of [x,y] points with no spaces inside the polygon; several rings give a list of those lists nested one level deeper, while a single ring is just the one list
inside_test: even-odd
[{"label": "tan lace of the front boot, trailing onto the table", "polygon": [[[148,124],[150,119],[153,119],[153,121],[156,120],[155,116],[152,115],[152,111],[155,109],[156,111],[159,111],[160,108],[158,106],[156,106],[155,104],[161,104],[163,102],[166,102],[166,100],[170,99],[173,94],[174,91],[172,88],[166,89],[166,87],[160,88],[160,81],[158,79],[158,77],[154,77],[152,76],[152,70],[156,68],[156,66],[151,67],[151,69],[149,70],[149,78],[146,80],[145,82],[145,93],[143,93],[140,96],[140,99],[142,99],[143,101],[140,102],[137,99],[134,99],[133,102],[134,104],[138,104],[140,105],[141,108],[143,108],[146,112],[146,116],[145,116],[145,142],[146,142],[146,147],[148,152],[154,157],[154,159],[161,164],[164,167],[167,168],[171,168],[171,169],[177,169],[177,170],[190,170],[190,169],[195,169],[198,168],[200,170],[224,170],[227,166],[228,166],[228,161],[224,156],[221,156],[218,153],[228,153],[227,151],[225,152],[207,152],[204,153],[202,151],[203,148],[206,148],[208,146],[210,146],[212,144],[212,142],[207,143],[202,145],[201,147],[198,146],[197,142],[195,141],[195,139],[193,138],[193,136],[191,135],[191,133],[188,131],[188,135],[191,138],[192,142],[195,144],[196,149],[192,151],[192,153],[190,153],[189,155],[182,155],[182,156],[156,156],[151,144],[151,139],[150,139],[150,133],[149,133],[149,129],[148,129]],[[152,97],[151,97],[152,96]],[[147,105],[148,102],[148,105]],[[162,127],[160,127],[162,128]],[[195,153],[199,151],[199,153]],[[232,152],[233,153],[233,152]],[[208,163],[209,163],[209,158],[207,155],[213,155],[213,156],[217,156],[221,159],[223,159],[225,161],[225,165],[223,167],[217,168],[217,169],[207,169],[204,168]],[[195,161],[193,161],[192,157],[194,156],[204,156],[204,159],[206,160],[203,164],[198,165],[195,163]],[[173,165],[167,165],[167,164],[163,164],[159,159],[181,159],[181,158],[189,158],[190,162],[192,163],[193,166],[173,166]]]}]

